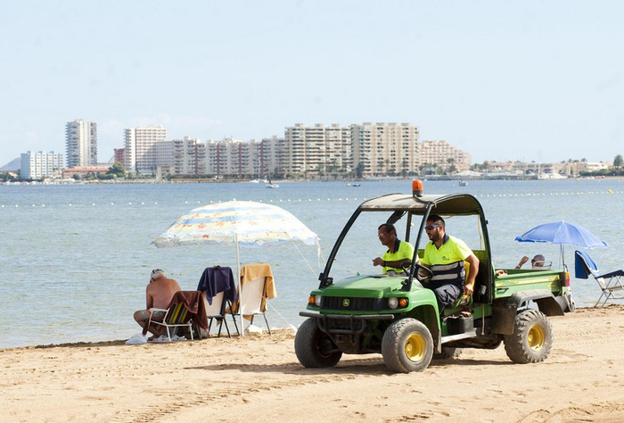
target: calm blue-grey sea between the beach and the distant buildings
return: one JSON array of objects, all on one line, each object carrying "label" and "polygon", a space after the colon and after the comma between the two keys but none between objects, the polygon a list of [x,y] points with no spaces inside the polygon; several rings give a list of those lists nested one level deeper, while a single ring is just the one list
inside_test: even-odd
[{"label": "calm blue-grey sea between the beach and the distant buildings", "polygon": [[[234,247],[189,246],[157,249],[151,242],[178,216],[201,205],[233,199],[274,203],[290,211],[320,237],[316,248],[287,245],[242,249],[241,261],[271,263],[277,297],[267,318],[272,327],[298,326],[299,311],[333,242],[351,213],[366,198],[409,193],[410,181],[263,184],[0,186],[0,348],[127,339],[140,328],[132,319],[144,308],[144,289],[153,268],[165,270],[183,289],[193,290],[204,268],[236,267]],[[591,250],[601,270],[624,266],[621,222],[624,181],[426,182],[431,194],[468,192],[483,204],[497,268],[513,267],[522,255],[544,253],[560,266],[556,245],[518,243],[514,237],[541,223],[566,220],[593,231],[608,248]],[[610,192],[611,191],[611,192]],[[381,255],[376,225],[362,233],[355,268],[376,272]],[[460,234],[449,224],[448,233]],[[574,247],[565,250],[573,278]],[[351,263],[353,267],[354,264]],[[593,305],[595,281],[572,279],[581,306]],[[260,325],[263,326],[263,325]]]}]

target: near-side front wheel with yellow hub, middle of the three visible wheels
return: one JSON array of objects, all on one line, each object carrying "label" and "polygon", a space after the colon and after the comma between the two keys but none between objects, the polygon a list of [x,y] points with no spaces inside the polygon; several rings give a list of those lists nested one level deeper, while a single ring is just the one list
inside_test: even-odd
[{"label": "near-side front wheel with yellow hub, middle of the three visible wheels", "polygon": [[429,328],[416,319],[393,322],[383,334],[382,355],[388,369],[396,373],[427,369],[433,357]]}]

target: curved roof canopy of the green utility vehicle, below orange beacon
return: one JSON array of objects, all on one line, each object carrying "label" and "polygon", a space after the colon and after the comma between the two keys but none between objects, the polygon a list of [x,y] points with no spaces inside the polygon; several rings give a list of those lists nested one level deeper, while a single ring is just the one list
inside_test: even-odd
[{"label": "curved roof canopy of the green utility vehicle, below orange beacon", "polygon": [[413,214],[424,214],[432,204],[431,212],[436,214],[472,215],[482,214],[483,208],[479,201],[469,194],[449,195],[414,195],[389,194],[381,195],[361,203],[360,211],[409,211]]}]

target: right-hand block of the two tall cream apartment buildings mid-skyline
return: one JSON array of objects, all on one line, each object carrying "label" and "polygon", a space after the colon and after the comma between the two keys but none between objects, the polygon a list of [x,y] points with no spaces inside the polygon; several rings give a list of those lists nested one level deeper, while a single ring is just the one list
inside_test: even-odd
[{"label": "right-hand block of the two tall cream apartment buildings mid-skyline", "polygon": [[351,125],[353,162],[365,176],[418,171],[418,127],[409,123]]}]

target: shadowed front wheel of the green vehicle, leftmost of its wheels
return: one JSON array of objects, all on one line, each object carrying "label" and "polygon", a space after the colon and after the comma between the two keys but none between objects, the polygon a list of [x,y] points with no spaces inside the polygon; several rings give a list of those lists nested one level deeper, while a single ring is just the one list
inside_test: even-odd
[{"label": "shadowed front wheel of the green vehicle, leftmost of its wheels", "polygon": [[333,367],[341,361],[342,352],[320,328],[316,319],[304,321],[295,336],[295,353],[308,369]]}]

